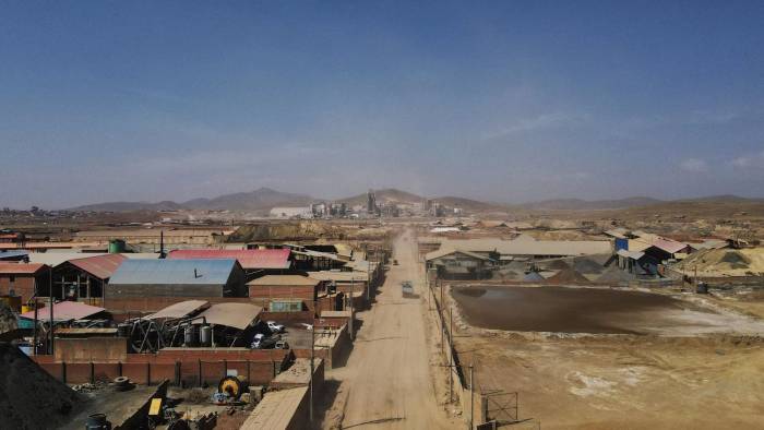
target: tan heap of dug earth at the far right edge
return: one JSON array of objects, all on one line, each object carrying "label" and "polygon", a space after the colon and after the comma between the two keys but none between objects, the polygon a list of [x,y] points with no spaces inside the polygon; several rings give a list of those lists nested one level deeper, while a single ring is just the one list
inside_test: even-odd
[{"label": "tan heap of dug earth at the far right edge", "polygon": [[764,273],[764,248],[709,249],[690,254],[676,268],[687,275],[757,276]]}]

